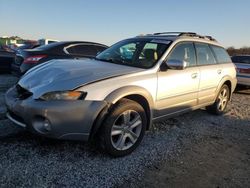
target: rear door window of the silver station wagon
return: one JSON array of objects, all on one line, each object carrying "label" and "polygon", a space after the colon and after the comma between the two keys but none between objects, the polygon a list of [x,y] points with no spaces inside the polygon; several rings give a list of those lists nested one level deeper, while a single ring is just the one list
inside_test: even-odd
[{"label": "rear door window of the silver station wagon", "polygon": [[207,44],[195,44],[198,65],[216,64],[214,55]]}]

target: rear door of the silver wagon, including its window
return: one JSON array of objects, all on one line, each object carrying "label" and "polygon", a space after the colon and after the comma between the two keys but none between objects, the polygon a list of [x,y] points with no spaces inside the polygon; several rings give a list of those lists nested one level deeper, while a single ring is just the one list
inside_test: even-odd
[{"label": "rear door of the silver wagon, including its window", "polygon": [[200,67],[199,104],[211,103],[223,77],[223,66],[218,64],[208,44],[195,43],[197,63]]}]

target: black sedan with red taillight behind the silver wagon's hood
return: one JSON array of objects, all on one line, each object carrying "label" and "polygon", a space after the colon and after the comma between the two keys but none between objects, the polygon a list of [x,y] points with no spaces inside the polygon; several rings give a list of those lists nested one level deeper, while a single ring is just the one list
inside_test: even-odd
[{"label": "black sedan with red taillight behind the silver wagon's hood", "polygon": [[93,58],[106,48],[106,45],[99,43],[67,41],[23,50],[16,54],[16,60],[12,64],[12,72],[20,76],[30,68],[51,59]]}]

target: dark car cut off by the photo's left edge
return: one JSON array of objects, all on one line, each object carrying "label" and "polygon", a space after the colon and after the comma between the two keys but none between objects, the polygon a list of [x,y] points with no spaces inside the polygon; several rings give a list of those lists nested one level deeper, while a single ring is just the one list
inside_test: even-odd
[{"label": "dark car cut off by the photo's left edge", "polygon": [[0,73],[10,73],[15,52],[7,46],[0,46]]}]

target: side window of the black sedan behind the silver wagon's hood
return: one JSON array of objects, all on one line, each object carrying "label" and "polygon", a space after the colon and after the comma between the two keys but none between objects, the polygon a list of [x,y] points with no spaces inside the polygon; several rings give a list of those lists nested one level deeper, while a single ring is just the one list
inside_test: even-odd
[{"label": "side window of the black sedan behind the silver wagon's hood", "polygon": [[93,45],[76,45],[67,48],[67,51],[72,55],[80,56],[96,56],[97,50]]}]

